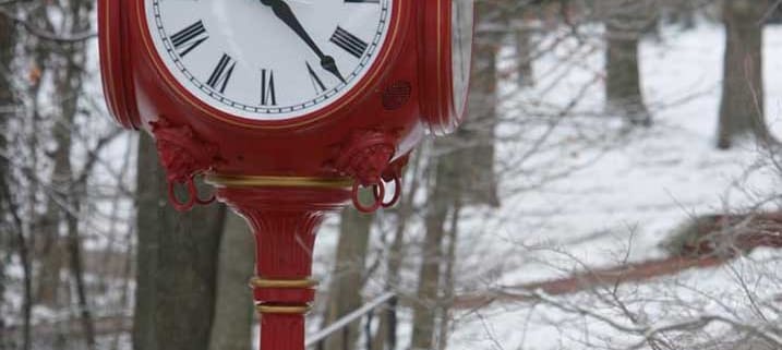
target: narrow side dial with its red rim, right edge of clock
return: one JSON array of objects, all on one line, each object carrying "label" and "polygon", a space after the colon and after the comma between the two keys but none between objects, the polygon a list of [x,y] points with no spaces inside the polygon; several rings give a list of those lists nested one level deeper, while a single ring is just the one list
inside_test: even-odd
[{"label": "narrow side dial with its red rim, right edge of clock", "polygon": [[[422,37],[436,38],[420,50],[421,110],[430,130],[453,132],[467,109],[472,67],[474,0],[429,0]],[[432,45],[434,44],[434,45]]]}]

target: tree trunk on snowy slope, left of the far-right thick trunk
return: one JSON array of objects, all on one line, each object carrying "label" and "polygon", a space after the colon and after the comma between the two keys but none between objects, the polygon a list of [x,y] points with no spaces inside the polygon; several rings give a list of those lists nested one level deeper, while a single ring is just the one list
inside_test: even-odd
[{"label": "tree trunk on snowy slope, left of the far-right thick trunk", "polygon": [[630,124],[650,126],[638,65],[641,28],[634,27],[637,15],[618,11],[623,13],[610,17],[605,25],[605,109],[610,114],[627,118]]}]

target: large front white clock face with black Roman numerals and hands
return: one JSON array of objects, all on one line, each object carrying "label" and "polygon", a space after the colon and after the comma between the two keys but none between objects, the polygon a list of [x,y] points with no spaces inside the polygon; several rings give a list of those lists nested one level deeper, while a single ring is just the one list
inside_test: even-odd
[{"label": "large front white clock face with black Roman numerals and hands", "polygon": [[159,57],[207,105],[282,121],[337,101],[370,71],[393,0],[144,0]]}]

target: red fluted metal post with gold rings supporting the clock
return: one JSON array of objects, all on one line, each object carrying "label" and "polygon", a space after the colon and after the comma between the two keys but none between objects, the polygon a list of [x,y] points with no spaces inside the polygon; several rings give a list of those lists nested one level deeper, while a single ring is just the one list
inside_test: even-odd
[{"label": "red fluted metal post with gold rings supporting the clock", "polygon": [[[330,212],[350,198],[344,186],[224,186],[218,197],[255,232],[255,309],[261,314],[261,350],[304,350],[304,315],[315,298],[311,279],[315,234]],[[332,182],[333,183],[333,182]]]}]

